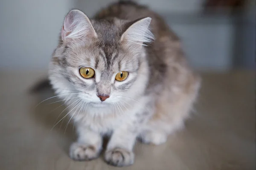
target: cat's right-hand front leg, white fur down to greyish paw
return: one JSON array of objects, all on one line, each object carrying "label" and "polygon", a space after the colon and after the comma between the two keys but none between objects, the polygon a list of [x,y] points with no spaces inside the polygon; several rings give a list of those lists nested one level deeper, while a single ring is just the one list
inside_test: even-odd
[{"label": "cat's right-hand front leg, white fur down to greyish paw", "polygon": [[133,164],[133,146],[136,136],[137,130],[135,127],[121,127],[116,129],[108,142],[105,161],[117,167]]}]

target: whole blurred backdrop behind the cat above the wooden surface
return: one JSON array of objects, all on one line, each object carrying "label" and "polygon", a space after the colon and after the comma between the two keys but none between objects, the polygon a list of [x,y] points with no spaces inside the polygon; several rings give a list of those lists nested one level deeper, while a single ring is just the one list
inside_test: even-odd
[{"label": "whole blurred backdrop behind the cat above the wooden surface", "polygon": [[[67,12],[92,17],[114,1],[1,0],[0,69],[47,70]],[[256,0],[137,1],[166,19],[195,69],[255,68]]]}]

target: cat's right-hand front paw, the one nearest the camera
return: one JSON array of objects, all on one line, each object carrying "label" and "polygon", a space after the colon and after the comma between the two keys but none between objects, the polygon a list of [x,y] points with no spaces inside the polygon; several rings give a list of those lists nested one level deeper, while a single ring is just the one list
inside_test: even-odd
[{"label": "cat's right-hand front paw, the one nearest the camera", "polygon": [[134,153],[122,148],[114,148],[106,151],[105,161],[116,167],[129,166],[134,163]]}]

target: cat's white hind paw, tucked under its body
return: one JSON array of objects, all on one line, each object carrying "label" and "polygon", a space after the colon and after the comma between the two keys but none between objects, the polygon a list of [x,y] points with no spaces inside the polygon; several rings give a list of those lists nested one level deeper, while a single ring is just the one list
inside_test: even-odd
[{"label": "cat's white hind paw, tucked under its body", "polygon": [[167,135],[160,132],[146,132],[142,133],[140,137],[145,144],[160,145],[167,141]]}]

